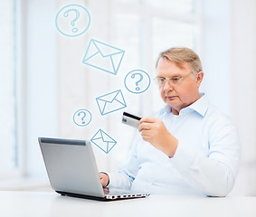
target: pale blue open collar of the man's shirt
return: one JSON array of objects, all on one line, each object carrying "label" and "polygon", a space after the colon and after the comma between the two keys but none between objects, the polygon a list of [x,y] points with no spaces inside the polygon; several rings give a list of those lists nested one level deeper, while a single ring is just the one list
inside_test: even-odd
[{"label": "pale blue open collar of the man's shirt", "polygon": [[[200,96],[201,96],[201,98],[197,99],[193,104],[191,104],[190,106],[188,106],[184,109],[181,109],[180,113],[190,113],[190,112],[195,111],[204,117],[204,115],[206,114],[206,111],[208,110],[209,102],[204,93],[200,93]],[[164,113],[164,112],[172,113],[171,107],[169,105],[166,105],[162,109],[161,113]]]}]

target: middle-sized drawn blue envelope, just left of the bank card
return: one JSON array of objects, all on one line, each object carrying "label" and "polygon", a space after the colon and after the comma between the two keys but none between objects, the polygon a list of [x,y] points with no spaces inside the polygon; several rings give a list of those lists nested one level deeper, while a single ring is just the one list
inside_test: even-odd
[{"label": "middle-sized drawn blue envelope, just left of the bank card", "polygon": [[96,101],[102,116],[127,107],[121,90],[116,90],[98,97]]}]

